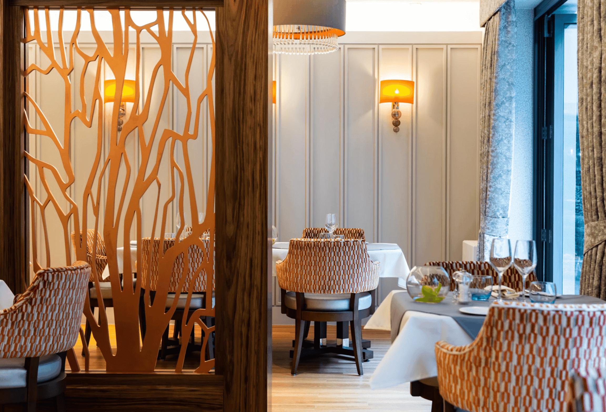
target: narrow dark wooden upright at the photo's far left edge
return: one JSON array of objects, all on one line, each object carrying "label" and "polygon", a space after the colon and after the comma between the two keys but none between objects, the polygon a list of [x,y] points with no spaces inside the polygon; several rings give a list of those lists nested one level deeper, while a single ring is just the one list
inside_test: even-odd
[{"label": "narrow dark wooden upright at the photo's far left edge", "polygon": [[25,64],[23,12],[0,0],[0,279],[14,293],[26,287],[25,137],[21,116]]}]

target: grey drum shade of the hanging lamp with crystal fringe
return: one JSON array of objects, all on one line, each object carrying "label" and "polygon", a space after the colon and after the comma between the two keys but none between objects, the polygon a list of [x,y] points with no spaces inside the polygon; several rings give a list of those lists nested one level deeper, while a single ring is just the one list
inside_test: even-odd
[{"label": "grey drum shade of the hanging lamp with crystal fringe", "polygon": [[273,25],[336,28],[345,34],[345,0],[274,0]]}]

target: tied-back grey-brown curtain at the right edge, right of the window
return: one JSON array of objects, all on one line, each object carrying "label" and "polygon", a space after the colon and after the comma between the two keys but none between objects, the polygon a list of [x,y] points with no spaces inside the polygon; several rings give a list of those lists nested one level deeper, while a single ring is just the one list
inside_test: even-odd
[{"label": "tied-back grey-brown curtain at the right edge, right of the window", "polygon": [[581,294],[606,299],[606,4],[578,2],[579,143],[585,219]]}]

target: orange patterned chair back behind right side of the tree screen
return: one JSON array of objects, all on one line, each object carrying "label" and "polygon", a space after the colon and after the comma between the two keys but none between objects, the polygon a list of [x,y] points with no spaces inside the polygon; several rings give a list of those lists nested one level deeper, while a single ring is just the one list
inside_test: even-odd
[{"label": "orange patterned chair back behind right side of the tree screen", "polygon": [[[142,238],[141,239],[141,265],[138,264],[138,267],[141,267],[141,287],[145,288],[147,285],[147,277],[150,278],[150,290],[156,290],[159,282],[159,272],[158,272],[158,258],[159,258],[159,250],[160,243],[162,239],[155,238],[153,242],[151,242],[151,238]],[[185,279],[183,291],[187,291],[189,282],[193,279],[196,270],[202,265],[204,259],[208,262],[208,250],[209,250],[209,240],[202,239],[202,244],[205,246],[205,251],[203,252],[201,248],[196,245],[191,245],[189,248],[189,270],[187,274],[187,278]],[[171,248],[175,245],[175,239],[164,239],[164,246],[162,250],[162,254],[164,254],[168,248]],[[183,254],[179,254],[175,259],[175,263],[173,264],[173,271],[170,274],[170,284],[168,285],[169,292],[177,292],[179,288],[179,281],[181,281],[181,276],[183,274],[185,268],[185,259],[183,258]],[[194,281],[194,289],[196,292],[203,292],[206,290],[206,273],[204,270],[201,270],[201,273],[196,280]],[[213,289],[215,288],[215,273],[213,270],[212,274],[213,281]]]}]

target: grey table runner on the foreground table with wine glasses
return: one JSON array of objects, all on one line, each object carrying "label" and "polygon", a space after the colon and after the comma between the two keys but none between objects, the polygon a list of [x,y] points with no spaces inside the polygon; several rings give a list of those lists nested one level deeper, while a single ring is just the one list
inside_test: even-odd
[{"label": "grey table runner on the foreground table with wine glasses", "polygon": [[[461,328],[471,337],[471,339],[475,339],[482,328],[482,324],[484,324],[485,316],[465,314],[459,312],[459,308],[464,306],[490,306],[490,304],[494,302],[494,298],[491,297],[487,302],[471,301],[468,305],[454,304],[452,299],[452,294],[448,293],[448,296],[444,298],[444,301],[440,302],[439,304],[426,304],[423,302],[413,301],[413,299],[406,292],[395,293],[391,298],[391,342],[393,342],[396,339],[396,336],[398,336],[402,317],[407,310],[450,316],[459,324],[459,326],[461,326]],[[597,297],[576,294],[565,294],[556,299],[556,304],[591,305],[604,303],[606,302],[602,301],[602,299],[598,299]]]}]

